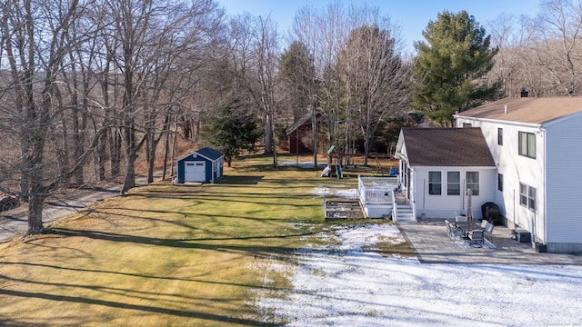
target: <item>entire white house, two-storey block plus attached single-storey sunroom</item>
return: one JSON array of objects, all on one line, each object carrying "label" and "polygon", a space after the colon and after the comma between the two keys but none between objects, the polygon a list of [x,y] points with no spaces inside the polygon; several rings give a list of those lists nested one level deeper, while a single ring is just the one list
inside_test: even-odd
[{"label": "entire white house, two-storey block plus attached single-storey sunroom", "polygon": [[582,98],[506,98],[455,118],[462,128],[401,131],[399,182],[416,216],[463,212],[457,188],[477,182],[476,218],[496,203],[547,252],[582,253]]}]

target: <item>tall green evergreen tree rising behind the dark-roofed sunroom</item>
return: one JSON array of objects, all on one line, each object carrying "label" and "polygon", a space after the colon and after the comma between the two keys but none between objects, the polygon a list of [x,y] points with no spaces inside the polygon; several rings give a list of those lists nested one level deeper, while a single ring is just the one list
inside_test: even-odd
[{"label": "tall green evergreen tree rising behind the dark-roofed sunroom", "polygon": [[453,114],[494,100],[498,83],[487,83],[497,49],[475,17],[447,11],[430,21],[423,32],[426,42],[415,44],[413,106],[441,124],[452,124]]}]

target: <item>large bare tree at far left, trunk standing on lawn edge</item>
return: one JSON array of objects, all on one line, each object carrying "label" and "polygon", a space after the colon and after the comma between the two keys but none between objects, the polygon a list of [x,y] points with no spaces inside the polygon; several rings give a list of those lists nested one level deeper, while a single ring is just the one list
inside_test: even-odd
[{"label": "large bare tree at far left, trunk standing on lawn edge", "polygon": [[[28,202],[28,232],[42,233],[43,203],[45,198],[68,179],[89,158],[89,151],[78,155],[67,172],[55,169],[55,157],[50,155],[55,144],[49,143],[51,130],[62,120],[65,110],[61,101],[59,84],[65,84],[61,72],[69,52],[80,39],[72,35],[72,22],[83,14],[85,6],[77,0],[53,3],[50,1],[5,1],[2,4],[2,45],[5,74],[4,99],[12,99],[3,110],[5,120],[3,134],[15,132],[20,148],[18,170],[19,191],[14,183],[2,181],[2,190],[17,193]],[[16,128],[15,126],[18,126]],[[92,142],[92,144],[94,144]],[[15,168],[12,164],[11,168]]]}]

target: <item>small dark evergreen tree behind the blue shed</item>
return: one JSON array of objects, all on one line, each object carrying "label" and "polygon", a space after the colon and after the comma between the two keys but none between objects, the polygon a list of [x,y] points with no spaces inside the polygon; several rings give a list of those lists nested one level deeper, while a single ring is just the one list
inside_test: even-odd
[{"label": "small dark evergreen tree behind the blue shed", "polygon": [[240,100],[235,99],[218,108],[218,113],[206,119],[206,141],[225,154],[230,167],[233,158],[242,150],[255,151],[261,131],[256,116],[246,110]]}]

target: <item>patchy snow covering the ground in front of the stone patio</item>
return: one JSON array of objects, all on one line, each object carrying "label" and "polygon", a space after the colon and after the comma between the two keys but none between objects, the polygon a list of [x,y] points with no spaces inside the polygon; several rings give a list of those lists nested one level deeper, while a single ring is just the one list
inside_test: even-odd
[{"label": "patchy snow covering the ground in front of the stone patio", "polygon": [[389,224],[338,226],[320,237],[331,245],[297,250],[294,268],[275,260],[252,267],[293,283],[262,294],[255,305],[266,316],[288,326],[582,326],[580,266],[385,258],[369,246],[405,242]]}]

